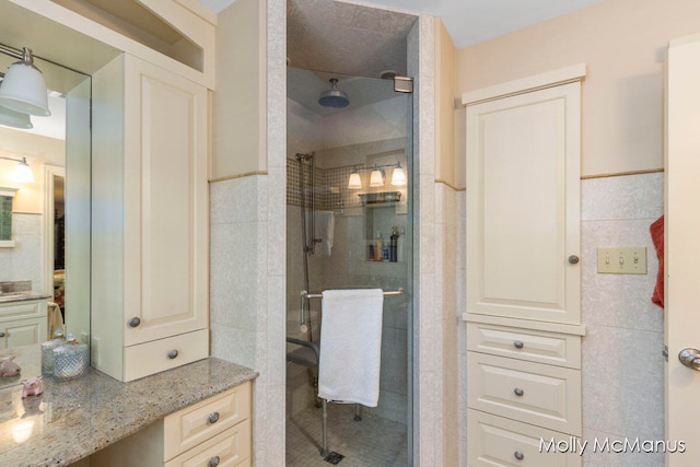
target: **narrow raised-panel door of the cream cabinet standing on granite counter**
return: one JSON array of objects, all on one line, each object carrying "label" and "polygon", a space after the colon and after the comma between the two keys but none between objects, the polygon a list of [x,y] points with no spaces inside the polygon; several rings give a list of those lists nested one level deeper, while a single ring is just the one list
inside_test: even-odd
[{"label": "narrow raised-panel door of the cream cabinet standing on granite counter", "polygon": [[206,328],[207,90],[127,56],[125,151],[125,345]]}]

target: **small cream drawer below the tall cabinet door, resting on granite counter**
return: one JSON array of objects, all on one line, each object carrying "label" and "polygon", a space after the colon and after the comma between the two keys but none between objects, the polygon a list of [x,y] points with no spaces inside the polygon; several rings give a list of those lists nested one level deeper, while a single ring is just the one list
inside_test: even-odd
[{"label": "small cream drawer below the tall cabinet door, resting on granite counter", "polygon": [[[177,357],[171,358],[171,352]],[[209,357],[209,330],[200,329],[124,348],[124,381],[129,382]]]}]

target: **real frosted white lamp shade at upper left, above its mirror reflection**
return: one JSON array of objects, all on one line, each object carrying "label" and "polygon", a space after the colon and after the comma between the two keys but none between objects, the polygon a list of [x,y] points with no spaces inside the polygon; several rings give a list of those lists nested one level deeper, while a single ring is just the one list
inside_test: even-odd
[{"label": "real frosted white lamp shade at upper left, above its mirror reflection", "polygon": [[24,61],[8,67],[0,84],[0,105],[22,114],[48,117],[48,95],[42,72]]}]

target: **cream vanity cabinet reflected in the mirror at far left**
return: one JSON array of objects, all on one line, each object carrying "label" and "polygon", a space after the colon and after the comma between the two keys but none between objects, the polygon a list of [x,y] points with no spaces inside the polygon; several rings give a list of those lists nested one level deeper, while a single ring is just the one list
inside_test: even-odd
[{"label": "cream vanity cabinet reflected in the mirror at far left", "polygon": [[46,299],[0,304],[0,349],[44,342],[47,338]]}]

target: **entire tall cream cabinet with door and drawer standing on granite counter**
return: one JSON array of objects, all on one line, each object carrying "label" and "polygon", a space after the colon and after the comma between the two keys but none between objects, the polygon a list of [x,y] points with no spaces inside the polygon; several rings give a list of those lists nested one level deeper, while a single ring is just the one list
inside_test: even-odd
[{"label": "entire tall cream cabinet with door and drawer standing on granite counter", "polygon": [[131,381],[209,354],[207,90],[128,55],[93,90],[92,364]]}]

